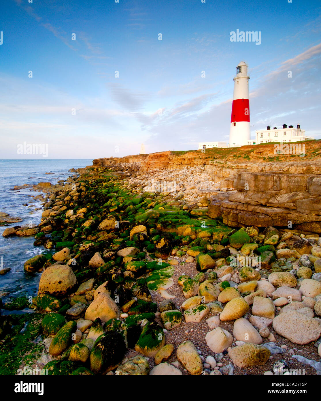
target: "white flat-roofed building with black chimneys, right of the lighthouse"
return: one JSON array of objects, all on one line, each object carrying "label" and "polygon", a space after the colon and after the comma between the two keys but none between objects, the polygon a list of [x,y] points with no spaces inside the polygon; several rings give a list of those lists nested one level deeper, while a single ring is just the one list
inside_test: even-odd
[{"label": "white flat-roofed building with black chimneys, right of the lighthouse", "polygon": [[248,145],[265,144],[268,142],[298,142],[309,139],[314,138],[305,136],[305,130],[302,130],[299,124],[297,128],[293,126],[289,126],[288,128],[286,124],[283,124],[282,128],[273,127],[271,130],[271,127],[267,126],[266,130],[256,130],[255,140],[248,141]]}]

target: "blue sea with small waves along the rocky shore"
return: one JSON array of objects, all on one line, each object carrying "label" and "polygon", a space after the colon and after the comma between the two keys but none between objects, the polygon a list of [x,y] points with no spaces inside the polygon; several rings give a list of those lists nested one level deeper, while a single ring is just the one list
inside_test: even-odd
[{"label": "blue sea with small waves along the rocky shore", "polygon": [[[56,184],[73,176],[69,170],[92,165],[87,159],[36,159],[36,160],[0,160],[0,212],[8,213],[11,217],[20,217],[20,223],[0,226],[0,268],[10,267],[11,270],[0,275],[0,297],[2,302],[10,302],[10,298],[18,296],[36,296],[41,273],[25,273],[24,262],[45,251],[43,247],[34,247],[34,237],[2,236],[7,227],[17,225],[38,225],[41,221],[42,199],[34,200],[32,196],[42,192],[24,188],[13,190],[15,185],[34,185],[38,182]],[[45,174],[50,172],[53,174]],[[38,210],[35,210],[38,209]],[[8,293],[8,294],[6,294]],[[16,313],[23,313],[23,310]],[[32,310],[28,310],[32,312]],[[12,311],[2,310],[2,314]]]}]

